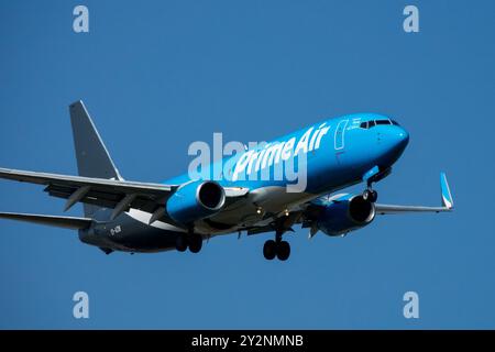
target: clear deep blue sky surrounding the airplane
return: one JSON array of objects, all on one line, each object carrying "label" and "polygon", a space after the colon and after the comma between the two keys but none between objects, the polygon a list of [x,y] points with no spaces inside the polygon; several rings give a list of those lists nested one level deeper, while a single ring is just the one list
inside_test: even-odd
[{"label": "clear deep blue sky surrounding the airplane", "polygon": [[[73,9],[90,33],[72,30]],[[416,4],[420,32],[403,31]],[[382,201],[451,215],[381,217],[342,238],[216,238],[199,255],[105,255],[75,232],[0,222],[0,328],[495,328],[493,1],[1,1],[0,166],[76,174],[67,106],[82,99],[122,175],[182,174],[193,141],[260,141],[339,114],[410,133]],[[0,182],[0,211],[59,215]],[[361,188],[356,188],[360,191]],[[75,208],[70,215],[80,215]],[[72,296],[90,297],[90,319]],[[403,317],[415,290],[420,319]]]}]

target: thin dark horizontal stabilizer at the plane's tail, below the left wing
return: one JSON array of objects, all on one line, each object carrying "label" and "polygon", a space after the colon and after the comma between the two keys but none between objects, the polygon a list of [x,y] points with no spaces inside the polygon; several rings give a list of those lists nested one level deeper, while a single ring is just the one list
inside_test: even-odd
[{"label": "thin dark horizontal stabilizer at the plane's tail, below the left wing", "polygon": [[57,216],[41,216],[34,213],[0,212],[0,219],[19,220],[46,224],[73,230],[84,230],[90,227],[92,220],[88,218],[72,218]]}]

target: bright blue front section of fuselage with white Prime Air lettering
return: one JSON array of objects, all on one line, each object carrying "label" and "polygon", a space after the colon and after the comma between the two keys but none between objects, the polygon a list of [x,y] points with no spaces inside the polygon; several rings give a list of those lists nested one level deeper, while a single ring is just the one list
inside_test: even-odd
[{"label": "bright blue front section of fuselage with white Prime Air lettering", "polygon": [[[264,147],[207,165],[204,175],[222,186],[246,187],[253,191],[294,184],[290,175],[285,174],[285,165],[292,163],[296,174],[298,165],[306,165],[307,186],[304,193],[319,195],[359,183],[364,173],[374,166],[388,168],[402,155],[408,141],[406,130],[385,116],[349,114],[316,123],[268,142]],[[251,158],[246,156],[250,153]],[[306,162],[298,164],[302,155]],[[280,169],[282,177],[275,177]],[[182,184],[188,180],[190,175],[185,174],[165,183]]]}]

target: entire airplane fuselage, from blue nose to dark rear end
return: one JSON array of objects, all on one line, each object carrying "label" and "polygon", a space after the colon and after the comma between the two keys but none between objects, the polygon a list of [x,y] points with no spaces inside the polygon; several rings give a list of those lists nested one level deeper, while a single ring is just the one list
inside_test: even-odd
[{"label": "entire airplane fuselage, from blue nose to dark rear end", "polygon": [[[370,169],[388,169],[408,140],[408,133],[389,118],[356,113],[316,123],[267,145],[205,165],[202,178],[217,180],[223,187],[245,188],[249,194],[231,205],[226,204],[213,217],[197,221],[194,230],[205,239],[270,223],[284,211],[362,182]],[[290,167],[285,167],[286,164],[293,165],[298,177],[305,170],[304,189],[287,191],[287,185],[297,180],[287,174]],[[165,184],[180,185],[193,179],[185,174]],[[96,218],[108,219],[108,212],[102,210]],[[131,209],[114,221],[81,232],[80,238],[87,243],[121,251],[174,249],[177,237],[185,230],[161,221],[148,226],[150,217]]]}]

